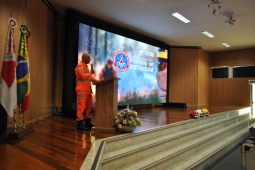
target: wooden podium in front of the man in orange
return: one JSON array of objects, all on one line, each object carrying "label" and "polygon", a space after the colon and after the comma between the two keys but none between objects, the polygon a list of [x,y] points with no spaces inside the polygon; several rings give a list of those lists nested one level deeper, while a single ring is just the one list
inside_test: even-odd
[{"label": "wooden podium in front of the man in orange", "polygon": [[118,113],[118,80],[114,77],[96,83],[95,132],[115,132],[114,117]]}]

